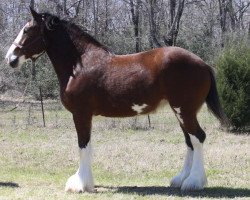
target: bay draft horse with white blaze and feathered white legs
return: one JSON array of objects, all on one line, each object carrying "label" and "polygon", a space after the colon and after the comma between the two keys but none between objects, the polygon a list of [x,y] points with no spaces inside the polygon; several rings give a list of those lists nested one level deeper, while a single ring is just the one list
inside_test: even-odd
[{"label": "bay draft horse with white blaze and feathered white legs", "polygon": [[20,67],[47,53],[57,74],[60,98],[73,115],[80,164],[65,190],[93,192],[91,170],[92,117],[131,117],[148,114],[166,100],[178,119],[187,146],[184,166],[170,182],[182,191],[207,184],[203,160],[205,132],[197,121],[204,102],[226,124],[219,102],[214,69],[179,47],[116,55],[78,25],[50,13],[30,9],[32,19],[19,32],[7,63]]}]

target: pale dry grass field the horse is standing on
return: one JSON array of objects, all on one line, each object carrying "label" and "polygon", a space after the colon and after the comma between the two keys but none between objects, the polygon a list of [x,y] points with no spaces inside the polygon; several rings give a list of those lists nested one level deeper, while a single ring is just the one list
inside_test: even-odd
[{"label": "pale dry grass field the horse is standing on", "polygon": [[[93,122],[96,192],[68,194],[67,178],[78,167],[77,138],[69,113],[28,109],[0,113],[0,199],[249,199],[249,136],[219,129],[205,108],[199,115],[208,187],[182,193],[169,187],[185,156],[184,137],[169,109],[147,117]],[[28,119],[29,118],[29,119]],[[32,121],[29,121],[31,120]],[[31,123],[32,122],[32,123]],[[30,125],[32,124],[32,125]]]}]

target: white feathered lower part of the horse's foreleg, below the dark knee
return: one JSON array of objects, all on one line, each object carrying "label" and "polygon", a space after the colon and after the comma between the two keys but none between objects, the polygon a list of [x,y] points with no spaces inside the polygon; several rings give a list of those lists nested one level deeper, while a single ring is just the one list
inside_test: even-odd
[{"label": "white feathered lower part of the horse's foreleg, below the dark knee", "polygon": [[79,150],[80,166],[77,172],[72,175],[65,187],[67,192],[93,192],[94,181],[91,170],[91,146]]}]

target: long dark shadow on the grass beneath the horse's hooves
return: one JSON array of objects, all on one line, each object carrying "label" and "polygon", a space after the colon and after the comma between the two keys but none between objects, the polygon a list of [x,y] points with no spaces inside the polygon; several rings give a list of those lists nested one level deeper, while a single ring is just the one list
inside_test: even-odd
[{"label": "long dark shadow on the grass beneath the horse's hooves", "polygon": [[146,195],[167,195],[179,197],[210,197],[210,198],[236,198],[236,197],[250,197],[250,189],[247,188],[227,188],[227,187],[210,187],[201,191],[181,192],[180,189],[163,187],[163,186],[150,186],[150,187],[137,187],[137,186],[96,186],[98,188],[106,189],[114,193],[123,194],[137,194],[141,196]]}]

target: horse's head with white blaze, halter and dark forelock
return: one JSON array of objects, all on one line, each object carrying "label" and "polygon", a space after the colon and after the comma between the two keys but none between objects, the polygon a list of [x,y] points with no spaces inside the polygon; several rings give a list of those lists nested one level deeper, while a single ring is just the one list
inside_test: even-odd
[{"label": "horse's head with white blaze, halter and dark forelock", "polygon": [[22,28],[5,56],[7,63],[13,68],[40,56],[46,50],[45,32],[54,30],[60,22],[59,18],[50,14],[39,14],[33,9],[30,11],[32,20]]}]

